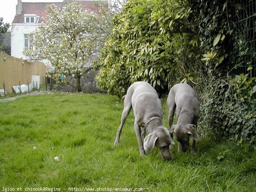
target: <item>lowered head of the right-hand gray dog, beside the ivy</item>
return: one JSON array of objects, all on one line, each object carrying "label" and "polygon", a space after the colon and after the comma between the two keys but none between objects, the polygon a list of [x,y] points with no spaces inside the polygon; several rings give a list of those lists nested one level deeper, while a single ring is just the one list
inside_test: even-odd
[{"label": "lowered head of the right-hand gray dog, beside the ivy", "polygon": [[189,148],[189,138],[192,135],[195,141],[199,140],[198,132],[195,125],[172,125],[170,129],[171,134],[174,132],[176,140],[180,142],[182,151],[186,152]]}]

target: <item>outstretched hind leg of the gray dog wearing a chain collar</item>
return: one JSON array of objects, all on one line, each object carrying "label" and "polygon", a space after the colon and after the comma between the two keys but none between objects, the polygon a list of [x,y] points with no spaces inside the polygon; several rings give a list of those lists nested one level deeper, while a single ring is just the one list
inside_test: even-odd
[{"label": "outstretched hind leg of the gray dog wearing a chain collar", "polygon": [[131,97],[130,96],[125,96],[125,101],[124,101],[124,110],[122,112],[122,117],[121,117],[121,124],[116,132],[116,140],[115,140],[115,145],[119,145],[119,140],[120,140],[120,134],[122,132],[122,127],[125,124],[125,120],[127,116],[129,115],[131,111],[132,105],[131,105]]}]

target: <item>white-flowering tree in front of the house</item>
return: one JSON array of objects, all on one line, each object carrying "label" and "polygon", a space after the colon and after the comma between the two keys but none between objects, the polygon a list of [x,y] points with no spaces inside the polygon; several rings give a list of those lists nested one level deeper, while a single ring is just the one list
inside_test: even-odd
[{"label": "white-flowering tree in front of the house", "polygon": [[98,22],[98,15],[77,3],[62,9],[50,5],[47,18],[29,35],[32,47],[25,48],[23,53],[31,60],[49,60],[55,72],[65,77],[65,84],[75,78],[76,84],[70,85],[81,91],[80,79],[93,68],[92,61],[104,42],[102,22]]}]

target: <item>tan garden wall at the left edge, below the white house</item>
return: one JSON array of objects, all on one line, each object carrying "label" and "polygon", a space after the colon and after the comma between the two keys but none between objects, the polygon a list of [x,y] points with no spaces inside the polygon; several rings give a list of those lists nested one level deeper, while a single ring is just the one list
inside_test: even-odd
[{"label": "tan garden wall at the left edge, below the white house", "polygon": [[[6,61],[3,61],[3,58]],[[3,83],[7,93],[12,93],[12,86],[31,83],[32,75],[40,76],[40,84],[45,84],[47,67],[42,62],[29,62],[22,58],[15,58],[0,52],[0,89],[3,89]]]}]

